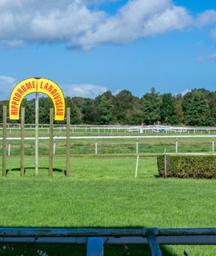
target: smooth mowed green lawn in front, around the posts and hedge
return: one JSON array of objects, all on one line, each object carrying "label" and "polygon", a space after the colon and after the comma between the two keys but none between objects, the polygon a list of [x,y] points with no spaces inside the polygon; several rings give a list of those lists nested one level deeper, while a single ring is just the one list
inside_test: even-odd
[{"label": "smooth mowed green lawn in front, around the posts and hedge", "polygon": [[[156,157],[140,157],[134,178],[136,163],[136,157],[71,157],[71,176],[66,177],[65,157],[55,157],[53,177],[49,177],[49,158],[40,157],[40,176],[34,177],[34,158],[25,157],[25,177],[20,177],[20,158],[8,157],[7,176],[0,177],[0,227],[215,227],[215,180],[158,178]],[[16,252],[10,254],[23,254],[28,250],[26,246],[16,245]],[[130,255],[151,255],[148,246],[128,247]],[[61,251],[62,255],[86,253],[86,246],[35,248],[44,248],[50,255],[60,255]],[[120,248],[105,248],[105,255],[116,255]],[[215,246],[161,249],[163,255],[183,255],[184,249],[188,255],[216,254]],[[1,249],[0,255],[4,253]]]}]

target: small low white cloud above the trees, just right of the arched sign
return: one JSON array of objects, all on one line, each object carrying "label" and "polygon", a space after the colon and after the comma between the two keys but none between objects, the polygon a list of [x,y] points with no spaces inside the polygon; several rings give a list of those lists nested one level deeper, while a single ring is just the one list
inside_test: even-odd
[{"label": "small low white cloud above the trees, just right of the arched sign", "polygon": [[63,94],[69,97],[84,97],[95,99],[98,95],[103,94],[107,91],[106,87],[100,85],[91,85],[91,84],[83,84],[83,85],[63,85],[61,86]]}]

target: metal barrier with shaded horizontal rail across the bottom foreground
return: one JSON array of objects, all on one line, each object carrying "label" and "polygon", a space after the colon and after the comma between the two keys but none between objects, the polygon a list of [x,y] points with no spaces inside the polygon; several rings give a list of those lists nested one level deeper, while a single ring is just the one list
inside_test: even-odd
[{"label": "metal barrier with shaded horizontal rail across the bottom foreground", "polygon": [[[141,229],[48,229],[0,228],[2,242],[25,243],[38,237],[48,244],[87,244],[87,238],[111,238],[107,244],[149,244],[153,256],[161,256],[159,244],[215,245],[216,228],[141,228]],[[41,238],[44,238],[41,239]],[[52,240],[53,239],[53,240]],[[52,240],[52,241],[51,241]],[[131,241],[130,241],[131,240]],[[180,242],[178,242],[180,240]],[[193,242],[194,241],[194,242]],[[27,240],[33,242],[33,239]]]}]

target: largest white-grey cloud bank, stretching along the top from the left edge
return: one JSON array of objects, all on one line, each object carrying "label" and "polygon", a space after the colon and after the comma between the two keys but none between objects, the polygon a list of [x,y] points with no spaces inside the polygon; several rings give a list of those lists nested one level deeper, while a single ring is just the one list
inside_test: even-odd
[{"label": "largest white-grey cloud bank, stretching along the top from the left edge", "polygon": [[177,7],[170,0],[131,0],[115,16],[87,8],[87,4],[104,2],[1,0],[0,41],[9,47],[66,42],[71,49],[90,50],[103,44],[127,44],[140,37],[183,30],[193,23],[186,8]]}]

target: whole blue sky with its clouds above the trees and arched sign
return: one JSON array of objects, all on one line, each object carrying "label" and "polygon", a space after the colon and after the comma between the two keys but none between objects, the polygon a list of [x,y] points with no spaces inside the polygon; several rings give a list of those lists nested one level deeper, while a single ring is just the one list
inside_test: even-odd
[{"label": "whole blue sky with its clouds above the trees and arched sign", "polygon": [[0,99],[31,77],[65,97],[215,91],[215,10],[198,0],[2,0]]}]

